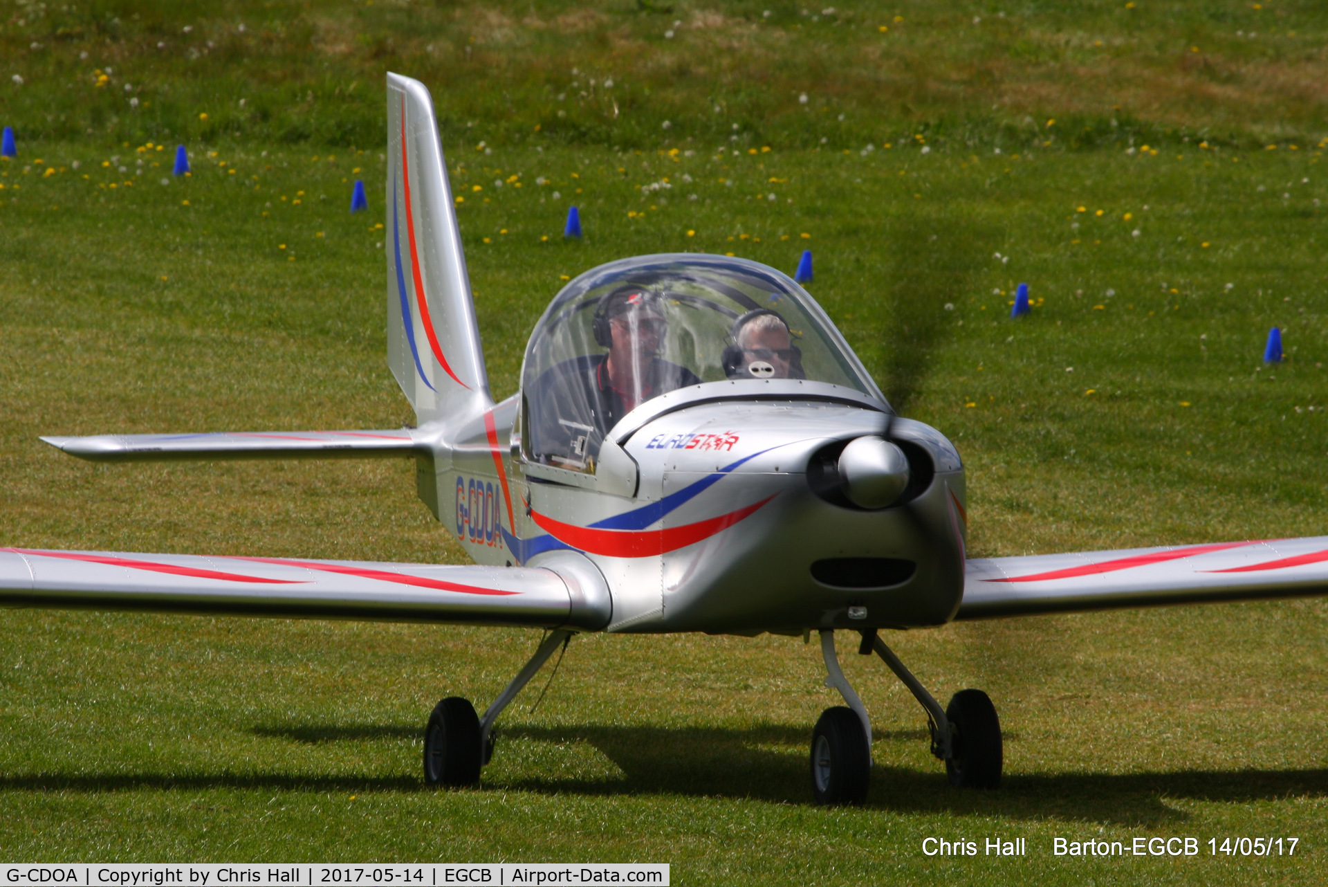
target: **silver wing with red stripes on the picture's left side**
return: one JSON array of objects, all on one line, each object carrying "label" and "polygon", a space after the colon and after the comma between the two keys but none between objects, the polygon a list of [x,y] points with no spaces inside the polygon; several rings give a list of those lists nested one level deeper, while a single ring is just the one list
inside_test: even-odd
[{"label": "silver wing with red stripes on the picture's left side", "polygon": [[0,548],[0,605],[603,628],[607,587],[568,567]]}]

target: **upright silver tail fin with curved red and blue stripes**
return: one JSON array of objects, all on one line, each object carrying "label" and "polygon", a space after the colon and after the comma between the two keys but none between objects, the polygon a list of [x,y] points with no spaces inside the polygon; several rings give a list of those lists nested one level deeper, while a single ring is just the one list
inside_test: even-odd
[{"label": "upright silver tail fin with curved red and blue stripes", "polygon": [[420,422],[493,405],[433,100],[388,74],[388,365]]}]

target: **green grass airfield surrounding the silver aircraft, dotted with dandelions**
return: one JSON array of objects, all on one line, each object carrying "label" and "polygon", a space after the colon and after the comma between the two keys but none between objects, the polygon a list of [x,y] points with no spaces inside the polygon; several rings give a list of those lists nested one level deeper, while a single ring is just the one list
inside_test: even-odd
[{"label": "green grass airfield surrounding the silver aircraft, dotted with dandelions", "polygon": [[[1027,15],[1011,8],[1007,20],[995,7],[938,5],[934,24],[957,28],[977,16],[1024,28],[1009,45],[1102,33],[1118,48],[1108,60],[1024,65],[1021,77],[1064,92],[1037,93],[1049,96],[1045,108],[1016,102],[989,120],[976,110],[989,96],[971,90],[943,101],[928,89],[931,110],[888,92],[899,65],[928,57],[928,45],[939,44],[927,40],[942,36],[910,37],[922,41],[910,50],[916,54],[884,56],[890,64],[880,68],[861,57],[826,61],[818,76],[849,84],[839,88],[845,102],[867,109],[874,90],[890,96],[884,117],[845,112],[842,137],[822,129],[829,122],[799,122],[797,96],[788,108],[764,109],[760,101],[773,100],[754,89],[730,96],[754,102],[737,142],[722,134],[729,130],[703,126],[703,116],[688,122],[668,102],[644,98],[651,125],[635,130],[559,130],[555,121],[572,116],[539,117],[535,86],[511,98],[511,114],[486,106],[497,102],[487,93],[449,110],[448,85],[467,74],[446,56],[436,60],[428,70],[437,78],[424,80],[457,123],[445,123],[444,146],[454,189],[466,197],[459,218],[495,394],[515,389],[525,337],[562,275],[672,250],[736,252],[791,271],[811,248],[813,293],[892,402],[959,445],[973,555],[1324,534],[1328,232],[1320,203],[1328,189],[1311,88],[1321,53],[1311,44],[1328,17],[1308,4],[1231,4],[1202,16],[1177,12],[1183,5],[1139,3],[1147,27],[1134,32],[1117,21],[1123,4],[1077,12],[1033,4]],[[134,41],[167,25],[182,40],[174,16],[191,8],[182,9],[101,8],[122,23],[141,15],[137,29],[126,25],[109,44],[110,32],[92,28],[61,40],[29,33],[31,21],[15,24],[17,12],[0,36],[12,58],[45,58],[56,72],[61,58],[94,44],[135,58]],[[250,94],[270,96],[252,101],[276,104],[271,96],[303,92],[316,74],[292,49],[311,39],[297,25],[316,16],[263,9],[223,12],[232,31],[235,20],[258,31],[262,16],[287,16],[272,32],[290,45],[274,37],[267,54],[236,50],[215,66],[247,58],[250,69],[234,77],[247,80]],[[477,40],[473,53],[509,60],[494,68],[499,86],[544,89],[537,74],[554,70],[568,46],[631,57],[647,72],[672,52],[664,40],[705,35],[680,27],[679,36],[651,37],[655,48],[640,36],[645,42],[628,41],[639,49],[632,56],[615,42],[620,31],[636,40],[633,29],[653,35],[673,19],[691,27],[706,11],[595,9],[608,24],[555,40],[556,29],[530,24],[534,13],[505,8],[511,42]],[[390,4],[339,7],[324,17],[371,16],[363,33],[397,35],[409,46],[392,52],[410,62],[409,52],[430,54],[416,45],[426,44],[425,25],[469,23],[467,11],[417,9],[424,24],[409,40]],[[542,7],[534,17],[554,21],[570,11]],[[733,23],[761,17],[754,7],[722,12]],[[865,7],[846,8],[838,27],[791,5],[774,12],[776,21],[760,27],[785,36],[752,37],[744,52],[754,54],[730,60],[737,73],[757,64],[761,40],[784,40],[805,58],[817,40],[851,46],[867,24],[875,28]],[[1042,24],[1020,24],[1033,13]],[[1267,101],[1250,114],[1239,110],[1252,93],[1219,90],[1230,98],[1220,106],[1158,100],[1131,112],[1131,134],[1112,135],[1104,122],[1104,137],[1077,150],[1045,133],[1017,135],[1033,110],[1056,120],[1101,112],[1106,121],[1112,109],[1093,102],[1118,98],[1100,97],[1093,84],[1116,82],[1120,66],[1162,64],[1145,50],[1167,40],[1248,32],[1242,16],[1255,13],[1276,23],[1258,25],[1263,37],[1232,37],[1230,50],[1195,45],[1223,46],[1210,66],[1239,66],[1247,86],[1295,76],[1311,84],[1307,93],[1258,93]],[[904,7],[899,15],[908,24],[931,13]],[[54,17],[33,21],[46,21],[50,33],[86,27]],[[857,37],[841,36],[849,24]],[[888,35],[900,31],[892,17],[882,24]],[[198,19],[199,33],[214,27]],[[608,36],[599,40],[596,28]],[[523,29],[548,42],[521,42]],[[956,33],[947,37],[947,64],[1004,58],[1004,49]],[[112,123],[109,113],[60,129],[24,105],[32,93],[56,97],[50,113],[68,122],[93,114],[106,88],[66,97],[25,68],[15,89],[31,93],[11,92],[0,105],[20,134],[20,155],[0,161],[0,542],[462,558],[414,501],[405,462],[109,467],[60,457],[36,440],[390,428],[412,418],[385,366],[376,116],[381,70],[416,70],[398,68],[390,52],[374,56],[381,44],[361,37],[352,28],[353,49],[337,57],[345,70],[336,76],[360,76],[364,92],[347,100],[344,114],[328,98],[327,110],[304,116],[341,121],[340,130],[328,123],[304,134],[278,126],[301,120],[284,105],[286,117],[268,118],[276,122],[236,118],[230,129],[191,130],[199,125],[193,100],[141,130],[126,129],[127,116]],[[1286,42],[1264,49],[1264,39]],[[153,62],[154,89],[205,98],[219,89],[190,73],[187,53],[175,49]],[[850,69],[875,73],[853,80]],[[1175,70],[1153,70],[1143,82],[1193,85],[1210,76]],[[676,101],[708,102],[700,80],[676,77]],[[1011,82],[991,89],[1028,94]],[[525,118],[518,131],[511,121],[522,114],[546,121],[543,135]],[[675,129],[663,130],[660,118]],[[462,130],[471,120],[475,127]],[[1284,138],[1270,135],[1278,126]],[[357,127],[373,141],[361,141]],[[182,139],[194,158],[187,179],[169,173]],[[165,150],[155,150],[158,141]],[[479,141],[490,153],[475,150]],[[355,179],[369,187],[368,214],[347,212]],[[640,189],[655,182],[659,190]],[[582,208],[583,242],[560,238],[571,202]],[[1031,284],[1037,307],[1012,321],[1019,282]],[[1283,328],[1287,360],[1266,366],[1272,325]],[[950,790],[926,753],[916,704],[879,663],[846,656],[878,732],[872,793],[858,810],[809,803],[806,742],[818,712],[837,700],[821,686],[817,651],[798,640],[579,639],[542,706],[531,713],[523,700],[509,709],[485,787],[438,794],[418,777],[429,708],[450,693],[490,698],[535,633],[31,611],[8,612],[3,624],[7,859],[635,859],[672,863],[679,883],[1317,883],[1328,864],[1328,605],[1320,600],[1007,620],[890,639],[938,696],[963,686],[991,693],[1007,730],[1007,777],[985,794]],[[1029,855],[943,860],[920,848],[926,837],[996,835],[1028,838]],[[1050,850],[1056,837],[1154,835],[1197,837],[1203,850],[1125,860]],[[1300,845],[1295,858],[1211,858],[1207,839],[1227,837],[1297,837]]]}]

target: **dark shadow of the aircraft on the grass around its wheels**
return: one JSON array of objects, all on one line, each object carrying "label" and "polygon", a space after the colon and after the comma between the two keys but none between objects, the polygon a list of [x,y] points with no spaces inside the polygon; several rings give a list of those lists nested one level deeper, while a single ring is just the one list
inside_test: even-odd
[{"label": "dark shadow of the aircraft on the grass around its wheels", "polygon": [[[420,729],[394,724],[259,725],[256,736],[317,745],[418,740]],[[489,778],[494,789],[542,794],[679,794],[806,805],[806,729],[761,725],[748,729],[653,726],[521,726],[501,730],[495,760],[518,744],[586,744],[614,762],[620,777],[602,779],[523,775]],[[1171,801],[1248,803],[1287,797],[1328,797],[1328,769],[1177,770],[1170,773],[1061,773],[1007,775],[995,791],[956,790],[936,764],[926,770],[890,766],[891,744],[926,738],[924,730],[876,732],[878,756],[866,809],[1109,822],[1130,826],[1183,823],[1190,815]],[[1007,734],[1007,741],[1019,737]],[[494,774],[497,777],[497,774]],[[290,773],[31,773],[0,777],[0,791],[131,791],[263,789],[287,791],[417,793],[414,775],[316,775]]]}]

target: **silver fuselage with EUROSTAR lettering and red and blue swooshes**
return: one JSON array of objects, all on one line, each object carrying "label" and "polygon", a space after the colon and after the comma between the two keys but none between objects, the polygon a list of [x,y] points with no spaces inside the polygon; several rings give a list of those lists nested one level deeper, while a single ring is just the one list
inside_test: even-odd
[{"label": "silver fuselage with EUROSTAR lettering and red and blue swooshes", "polygon": [[[871,396],[806,380],[677,389],[611,429],[594,474],[523,458],[521,402],[456,436],[412,432],[429,453],[421,498],[477,563],[584,555],[611,590],[610,631],[903,628],[959,607],[959,455]],[[911,479],[894,506],[866,510],[822,475],[845,444],[874,434],[904,450]]]}]

